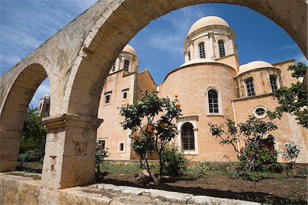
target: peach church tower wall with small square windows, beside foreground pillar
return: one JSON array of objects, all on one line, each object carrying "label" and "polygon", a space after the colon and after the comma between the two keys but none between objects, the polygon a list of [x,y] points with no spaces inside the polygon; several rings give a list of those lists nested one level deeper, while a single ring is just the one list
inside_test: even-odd
[{"label": "peach church tower wall with small square windows, beside foreground pillar", "polygon": [[[103,88],[101,101],[99,104],[99,118],[104,119],[103,123],[97,130],[97,140],[105,139],[105,147],[109,149],[110,157],[108,159],[129,160],[130,158],[130,143],[128,137],[129,130],[123,130],[120,121],[123,117],[120,116],[120,107],[128,102],[133,103],[135,92],[136,73],[127,73],[126,71],[118,71],[109,75]],[[127,99],[123,99],[123,91],[127,91]],[[111,93],[110,103],[105,104],[105,94]],[[120,143],[123,143],[123,151],[120,151]]]}]

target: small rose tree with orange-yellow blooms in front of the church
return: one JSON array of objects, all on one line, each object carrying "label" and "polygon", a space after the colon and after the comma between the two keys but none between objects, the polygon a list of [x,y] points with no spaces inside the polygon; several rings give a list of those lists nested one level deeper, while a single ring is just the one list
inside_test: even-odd
[{"label": "small rose tree with orange-yellow blooms in front of the church", "polygon": [[[121,122],[123,129],[130,129],[133,131],[132,133],[140,130],[142,133],[141,136],[134,138],[132,147],[155,184],[159,183],[164,170],[163,149],[177,135],[177,126],[172,121],[181,115],[181,104],[177,95],[175,97],[175,101],[171,101],[159,98],[156,93],[146,93],[133,104],[127,103],[120,107],[120,115],[125,117],[124,121]],[[146,123],[145,129],[142,128],[142,122]],[[158,177],[149,167],[148,157],[150,152],[156,152],[159,157]]]}]

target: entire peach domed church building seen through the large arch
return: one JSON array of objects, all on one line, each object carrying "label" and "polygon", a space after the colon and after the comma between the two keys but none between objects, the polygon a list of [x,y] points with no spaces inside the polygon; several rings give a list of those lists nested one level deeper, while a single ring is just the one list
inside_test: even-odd
[{"label": "entire peach domed church building seen through the large arch", "polygon": [[[136,159],[131,151],[131,131],[120,126],[123,118],[118,107],[132,104],[144,91],[155,91],[159,97],[170,99],[173,93],[179,95],[183,116],[177,119],[179,134],[174,143],[188,158],[224,162],[236,160],[236,154],[233,147],[222,146],[211,136],[208,123],[221,124],[227,117],[240,123],[249,115],[268,121],[266,110],[279,106],[272,93],[296,82],[287,71],[294,60],[240,65],[235,32],[218,16],[206,16],[192,25],[184,42],[184,58],[185,63],[157,86],[149,71],[138,73],[139,59],[133,47],[127,45],[120,53],[105,82],[99,106],[98,117],[105,121],[97,131],[97,140],[109,149],[109,159]],[[274,123],[278,126],[271,133],[276,138],[274,149],[283,150],[284,143],[294,141],[302,148],[298,162],[307,162],[307,130],[289,114]],[[238,146],[243,143],[240,141]],[[278,160],[283,158],[279,156]]]}]

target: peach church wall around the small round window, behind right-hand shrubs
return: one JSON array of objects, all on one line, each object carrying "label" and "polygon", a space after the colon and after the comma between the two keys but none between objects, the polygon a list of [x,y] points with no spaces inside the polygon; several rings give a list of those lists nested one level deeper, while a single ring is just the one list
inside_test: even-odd
[{"label": "peach church wall around the small round window, behind right-hand shrubs", "polygon": [[[267,110],[274,110],[279,104],[272,96],[259,96],[259,97],[250,97],[246,99],[238,99],[234,102],[236,120],[237,123],[245,122],[248,119],[248,115],[253,114],[253,110],[257,106],[264,106]],[[268,117],[262,119],[264,121],[269,121]],[[284,144],[287,141],[294,141],[302,147],[300,152],[300,157],[297,162],[307,162],[307,132],[300,125],[297,124],[297,121],[294,117],[289,114],[283,114],[281,119],[275,119],[274,123],[277,125],[278,129],[270,132],[275,139],[276,144],[274,145],[276,150],[283,151]],[[305,134],[304,134],[305,133]],[[304,136],[303,136],[304,135]],[[306,136],[306,137],[305,137]],[[306,143],[305,143],[306,141]],[[241,143],[241,147],[244,146],[244,143]],[[285,162],[282,158],[282,155],[279,154],[278,160],[280,162]]]}]

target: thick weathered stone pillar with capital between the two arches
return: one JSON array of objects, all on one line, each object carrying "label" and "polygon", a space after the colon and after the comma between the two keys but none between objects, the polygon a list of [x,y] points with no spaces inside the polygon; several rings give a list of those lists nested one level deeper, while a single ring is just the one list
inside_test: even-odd
[{"label": "thick weathered stone pillar with capital between the two arches", "polygon": [[103,120],[66,113],[43,121],[48,130],[43,189],[50,191],[94,182],[97,128]]}]

